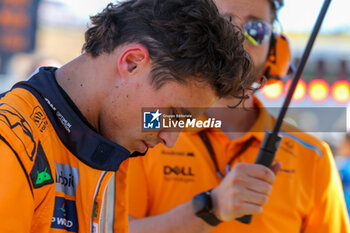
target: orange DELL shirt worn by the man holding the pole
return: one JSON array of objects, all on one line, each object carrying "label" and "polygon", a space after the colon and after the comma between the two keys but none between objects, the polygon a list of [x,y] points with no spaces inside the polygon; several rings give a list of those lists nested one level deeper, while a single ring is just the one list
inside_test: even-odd
[{"label": "orange DELL shirt worn by the man holding the pole", "polygon": [[[223,174],[232,155],[251,137],[255,140],[231,167],[237,162],[253,163],[263,132],[273,126],[274,118],[255,102],[260,107],[259,117],[242,138],[230,141],[223,132],[208,132]],[[328,145],[286,124],[282,130],[276,156],[282,170],[263,213],[253,216],[249,225],[224,222],[212,232],[350,232],[339,175]],[[130,215],[137,218],[164,213],[221,181],[196,133],[181,133],[175,147],[157,146],[144,158],[130,159],[129,165]]]}]

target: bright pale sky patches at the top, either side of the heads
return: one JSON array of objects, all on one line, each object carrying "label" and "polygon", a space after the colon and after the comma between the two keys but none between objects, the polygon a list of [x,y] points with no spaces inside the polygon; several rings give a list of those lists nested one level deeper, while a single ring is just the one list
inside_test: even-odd
[{"label": "bright pale sky patches at the top, either side of the heads", "polygon": [[[56,0],[65,3],[76,15],[88,22],[89,15],[102,10],[110,0]],[[259,0],[257,0],[259,1]],[[309,32],[322,7],[323,0],[285,0],[280,21],[285,31]],[[333,0],[322,32],[350,33],[350,0]]]}]

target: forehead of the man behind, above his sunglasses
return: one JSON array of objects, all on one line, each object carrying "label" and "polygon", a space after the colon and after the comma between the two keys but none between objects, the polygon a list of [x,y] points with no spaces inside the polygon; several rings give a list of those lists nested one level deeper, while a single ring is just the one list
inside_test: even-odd
[{"label": "forehead of the man behind, above his sunglasses", "polygon": [[215,0],[220,13],[230,15],[234,22],[250,19],[272,22],[272,12],[268,0]]}]

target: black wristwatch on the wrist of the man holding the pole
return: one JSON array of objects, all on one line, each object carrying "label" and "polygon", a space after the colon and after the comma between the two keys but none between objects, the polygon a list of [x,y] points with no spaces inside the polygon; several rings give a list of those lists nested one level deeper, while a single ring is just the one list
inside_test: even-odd
[{"label": "black wristwatch on the wrist of the man holding the pole", "polygon": [[217,226],[221,223],[213,212],[213,203],[211,199],[211,190],[200,193],[193,197],[192,207],[194,214],[202,218],[211,226]]}]

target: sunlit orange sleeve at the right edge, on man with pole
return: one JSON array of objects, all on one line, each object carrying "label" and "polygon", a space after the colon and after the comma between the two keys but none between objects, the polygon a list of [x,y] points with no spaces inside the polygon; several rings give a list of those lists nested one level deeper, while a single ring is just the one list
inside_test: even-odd
[{"label": "sunlit orange sleeve at the right edge, on man with pole", "polygon": [[350,232],[344,194],[329,146],[317,161],[315,170],[315,205],[307,216],[304,233]]}]

